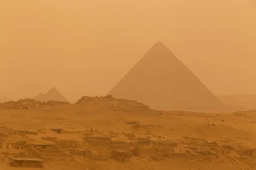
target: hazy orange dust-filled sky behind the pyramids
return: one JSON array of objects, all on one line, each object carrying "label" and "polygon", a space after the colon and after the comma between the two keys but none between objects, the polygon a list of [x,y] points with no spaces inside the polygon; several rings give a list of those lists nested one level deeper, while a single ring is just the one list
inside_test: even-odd
[{"label": "hazy orange dust-filled sky behind the pyramids", "polygon": [[163,42],[216,95],[256,94],[254,0],[0,0],[0,97],[105,95]]}]

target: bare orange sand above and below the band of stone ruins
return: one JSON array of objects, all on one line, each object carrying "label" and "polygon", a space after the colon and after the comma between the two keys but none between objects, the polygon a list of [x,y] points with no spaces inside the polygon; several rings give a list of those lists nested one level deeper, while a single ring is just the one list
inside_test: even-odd
[{"label": "bare orange sand above and below the band of stone ruins", "polygon": [[[228,145],[227,154],[206,156],[202,159],[165,158],[153,161],[148,157],[132,158],[126,163],[109,161],[93,161],[102,170],[256,170],[252,157],[240,156],[239,149],[256,148],[256,111],[237,113],[192,113],[182,111],[154,111],[131,106],[127,109],[113,109],[102,104],[88,106],[59,106],[44,110],[11,110],[0,109],[1,142],[18,141],[41,142],[41,137],[52,136],[58,139],[75,139],[83,141],[83,133],[58,134],[51,128],[70,131],[97,129],[102,135],[111,133],[135,132],[136,138],[150,140],[168,140],[177,142],[175,150],[201,147],[202,141],[217,142],[219,146]],[[138,121],[139,127],[127,125],[124,121]],[[11,130],[6,130],[9,128]],[[38,135],[26,136],[13,133],[15,130],[44,131]],[[5,137],[3,137],[5,136]],[[123,135],[113,138],[116,141],[131,142]],[[207,146],[206,146],[207,149]],[[3,154],[0,157],[3,158]],[[244,158],[245,157],[245,158]],[[230,159],[231,158],[231,159]],[[245,160],[245,161],[244,161]],[[0,170],[17,169],[10,167],[8,159],[0,160]],[[52,158],[44,161],[44,168],[50,170],[90,170],[94,165],[83,156],[70,158]],[[27,170],[20,167],[20,170]],[[29,168],[30,170],[38,168]]]}]

